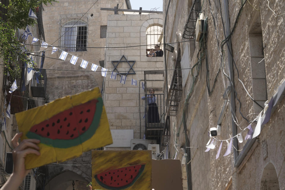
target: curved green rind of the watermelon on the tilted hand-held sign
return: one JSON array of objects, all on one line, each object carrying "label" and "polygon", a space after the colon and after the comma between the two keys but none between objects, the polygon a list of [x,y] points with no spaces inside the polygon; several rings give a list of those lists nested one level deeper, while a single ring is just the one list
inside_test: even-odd
[{"label": "curved green rind of the watermelon on the tilted hand-held sign", "polygon": [[80,145],[81,143],[85,142],[86,140],[90,139],[96,132],[99,123],[100,123],[100,118],[102,115],[103,111],[103,99],[99,97],[98,102],[96,103],[96,110],[95,114],[93,117],[93,121],[90,126],[83,134],[80,136],[76,137],[75,139],[50,139],[47,137],[42,137],[34,132],[27,132],[26,136],[30,139],[38,139],[42,144],[48,145],[48,146],[53,146],[55,148],[70,148],[72,146],[77,146]]}]

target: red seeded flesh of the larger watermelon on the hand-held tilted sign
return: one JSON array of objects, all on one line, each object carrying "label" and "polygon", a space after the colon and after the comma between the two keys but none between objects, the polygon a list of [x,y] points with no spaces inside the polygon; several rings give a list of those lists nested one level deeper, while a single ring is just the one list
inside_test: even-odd
[{"label": "red seeded flesh of the larger watermelon on the hand-held tilted sign", "polygon": [[31,127],[30,132],[49,139],[70,140],[83,134],[92,123],[97,99],[77,105]]}]

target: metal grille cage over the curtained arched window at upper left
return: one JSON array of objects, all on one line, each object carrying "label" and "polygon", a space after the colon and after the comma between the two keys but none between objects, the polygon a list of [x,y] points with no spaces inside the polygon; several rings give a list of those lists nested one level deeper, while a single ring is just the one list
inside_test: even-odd
[{"label": "metal grille cage over the curtained arched window at upper left", "polygon": [[59,45],[66,52],[86,51],[88,18],[83,14],[60,15]]}]

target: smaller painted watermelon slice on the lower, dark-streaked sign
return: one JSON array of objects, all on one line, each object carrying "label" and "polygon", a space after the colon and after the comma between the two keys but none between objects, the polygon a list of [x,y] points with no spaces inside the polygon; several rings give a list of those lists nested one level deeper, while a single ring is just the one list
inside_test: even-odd
[{"label": "smaller painted watermelon slice on the lower, dark-streaked sign", "polygon": [[125,189],[140,177],[145,165],[135,165],[96,174],[97,183],[106,189]]}]

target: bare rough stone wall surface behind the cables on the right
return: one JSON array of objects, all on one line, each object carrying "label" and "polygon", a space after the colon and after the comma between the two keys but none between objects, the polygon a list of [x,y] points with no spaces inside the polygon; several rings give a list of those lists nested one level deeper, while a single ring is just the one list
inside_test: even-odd
[{"label": "bare rough stone wall surface behind the cables on the right", "polygon": [[[203,2],[203,1],[202,1]],[[207,37],[207,51],[208,51],[208,61],[209,61],[209,84],[210,88],[213,88],[212,94],[208,94],[206,78],[207,78],[207,69],[205,65],[205,60],[201,62],[201,70],[199,77],[196,77],[196,82],[194,83],[194,89],[192,90],[193,77],[191,74],[187,76],[186,85],[183,86],[183,96],[181,101],[183,103],[179,104],[179,111],[176,117],[171,117],[171,133],[172,137],[170,140],[170,157],[174,157],[176,154],[176,148],[178,149],[177,158],[181,159],[185,150],[185,131],[183,128],[182,114],[184,105],[186,105],[186,134],[190,140],[191,155],[188,155],[188,161],[191,161],[191,186],[192,189],[260,189],[264,188],[264,181],[269,181],[273,183],[274,179],[265,177],[264,171],[265,167],[268,164],[274,166],[276,171],[277,181],[279,182],[279,188],[284,189],[284,129],[282,128],[284,121],[284,99],[279,103],[278,107],[272,113],[269,123],[265,125],[262,129],[261,134],[258,136],[258,141],[254,143],[249,152],[247,153],[242,164],[235,168],[235,159],[232,152],[223,157],[224,152],[227,148],[227,143],[224,141],[221,148],[221,155],[216,159],[216,154],[219,149],[221,142],[219,141],[216,145],[216,148],[210,150],[209,152],[205,151],[205,145],[209,140],[208,130],[211,127],[216,127],[218,118],[220,116],[222,107],[224,105],[223,94],[225,91],[224,82],[226,82],[226,87],[229,85],[229,80],[221,72],[218,75],[217,82],[215,87],[213,87],[214,79],[217,72],[220,69],[221,65],[221,56],[217,46],[217,37],[221,42],[224,40],[224,30],[221,20],[221,15],[225,22],[225,10],[224,10],[224,1],[221,1],[221,8],[219,7],[219,1],[205,1],[202,7],[202,10],[205,14],[205,17],[208,17],[208,37]],[[216,6],[215,6],[216,2]],[[191,6],[192,1],[171,1],[170,7],[168,10],[167,17],[167,26],[165,31],[165,36],[167,37],[167,42],[177,42],[182,39],[179,37],[179,33],[183,34],[185,22],[187,16],[189,15],[189,5]],[[260,10],[257,11],[256,9]],[[278,85],[282,83],[285,76],[285,65],[284,65],[284,34],[285,27],[282,24],[283,18],[281,16],[275,16],[274,13],[268,8],[265,1],[249,1],[243,8],[243,11],[240,15],[240,18],[237,22],[235,31],[232,34],[232,53],[233,59],[237,65],[234,67],[234,85],[237,91],[236,98],[240,99],[241,106],[239,105],[238,100],[236,99],[236,111],[234,119],[237,121],[237,132],[241,132],[241,129],[244,129],[248,126],[248,123],[245,119],[242,118],[239,113],[241,113],[249,120],[252,121],[258,114],[257,105],[253,103],[250,97],[247,95],[245,89],[243,88],[242,83],[244,83],[246,90],[254,98],[259,100],[258,96],[264,96],[266,94],[267,99],[276,93]],[[164,14],[166,12],[168,1],[164,1]],[[269,4],[270,7],[276,12],[276,14],[282,14],[285,12],[284,1],[278,1]],[[187,7],[188,6],[188,7]],[[229,19],[230,19],[230,29],[233,29],[235,20],[238,15],[238,11],[241,7],[240,1],[229,2]],[[211,15],[213,12],[213,16]],[[170,16],[171,15],[171,16]],[[259,16],[260,15],[260,16]],[[165,16],[165,15],[164,15]],[[258,21],[260,20],[260,21]],[[178,22],[179,21],[179,22]],[[214,27],[214,21],[216,29]],[[252,46],[250,45],[249,36],[251,34],[259,34],[259,30],[256,28],[260,27],[262,32],[262,46],[259,45]],[[178,36],[176,36],[178,34]],[[172,68],[175,62],[172,61],[172,56],[177,57],[178,49],[181,49],[181,56],[184,53],[184,47],[186,44],[190,45],[190,56],[189,56],[189,67],[197,63],[197,54],[199,52],[200,46],[199,43],[192,42],[181,42],[175,45],[175,52],[167,52],[167,68]],[[258,44],[258,43],[256,43]],[[194,48],[191,48],[194,47]],[[264,52],[264,62],[259,63],[259,68],[262,67],[262,64],[265,64],[265,76],[266,76],[266,86],[267,88],[262,87],[262,83],[255,83],[256,78],[254,77],[259,72],[254,69],[253,65],[257,64],[254,62],[254,58],[258,56],[252,56],[252,52],[257,52],[258,48],[261,48]],[[227,44],[224,45],[224,72],[229,75],[228,68],[228,50]],[[261,58],[259,59],[259,61]],[[259,62],[257,61],[257,62]],[[194,75],[197,74],[196,69],[193,70]],[[239,78],[238,78],[239,74]],[[172,72],[168,74],[168,81],[171,81]],[[261,81],[261,80],[259,80]],[[187,104],[184,104],[184,100],[187,97],[187,94],[191,94],[190,99]],[[256,96],[256,93],[258,96]],[[230,96],[229,96],[230,98]],[[226,107],[226,113],[222,121],[221,135],[217,136],[219,140],[228,139],[232,136],[232,116],[230,111],[230,105]],[[252,125],[253,129],[255,124]],[[245,137],[247,130],[242,133]],[[263,159],[262,156],[262,143],[267,143],[267,152],[268,156]],[[246,141],[243,143],[238,143],[237,149],[243,149]],[[178,145],[176,145],[178,144]],[[185,167],[182,166],[182,168]],[[186,172],[186,171],[185,171]],[[183,179],[186,177],[183,175]],[[188,179],[189,180],[189,179]],[[275,181],[274,181],[275,182]],[[262,185],[261,185],[262,184]],[[186,181],[183,181],[184,189],[189,188]]]}]

